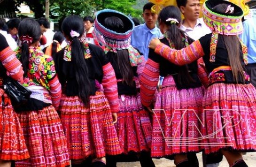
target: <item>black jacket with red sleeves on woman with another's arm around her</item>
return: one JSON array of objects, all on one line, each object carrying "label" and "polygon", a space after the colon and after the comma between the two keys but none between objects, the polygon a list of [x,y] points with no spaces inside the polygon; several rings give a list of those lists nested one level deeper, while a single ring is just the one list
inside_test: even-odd
[{"label": "black jacket with red sleeves on woman with another's arm around her", "polygon": [[[162,38],[160,41],[162,44],[169,45],[172,48],[175,47],[173,43],[168,40],[168,38]],[[192,41],[193,39],[191,38],[183,38],[184,45],[188,45]],[[194,61],[188,65],[178,66],[169,61],[166,61],[163,57],[155,53],[154,50],[150,49],[148,60],[140,80],[140,94],[142,104],[144,106],[149,106],[151,104],[154,98],[159,75],[163,77],[171,75],[175,82],[173,85],[176,85],[177,89],[181,90],[202,86],[200,80],[201,78],[199,78],[198,72],[200,72],[200,75],[203,75],[204,77],[207,76],[205,71],[202,71],[201,66],[198,65],[197,61]],[[182,79],[178,80],[179,77],[188,77],[184,75],[189,75],[191,78],[193,78],[194,82],[187,83]]]}]

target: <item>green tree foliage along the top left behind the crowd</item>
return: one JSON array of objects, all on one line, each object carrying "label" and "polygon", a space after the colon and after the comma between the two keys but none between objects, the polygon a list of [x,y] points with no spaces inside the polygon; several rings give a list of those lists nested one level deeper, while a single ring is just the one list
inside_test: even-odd
[{"label": "green tree foliage along the top left behind the crowd", "polygon": [[[50,0],[50,18],[57,21],[67,15],[95,16],[97,11],[109,8],[142,21],[142,8],[147,2],[148,0]],[[31,8],[35,18],[44,16],[45,0],[3,0],[0,4],[0,13],[15,12],[21,3]]]}]

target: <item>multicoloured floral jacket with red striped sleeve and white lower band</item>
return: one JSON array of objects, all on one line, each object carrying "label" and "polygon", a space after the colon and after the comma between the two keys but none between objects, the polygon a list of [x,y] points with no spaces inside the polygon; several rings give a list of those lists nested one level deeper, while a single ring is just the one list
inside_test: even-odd
[{"label": "multicoloured floral jacket with red striped sleeve and white lower band", "polygon": [[[58,109],[61,100],[61,84],[55,72],[54,61],[51,56],[45,55],[38,47],[29,47],[29,70],[24,77],[24,86],[27,86],[32,94],[31,99],[36,99],[44,104],[52,104]],[[21,49],[16,51],[18,59],[21,58]],[[35,109],[47,106],[34,102]],[[42,107],[36,107],[42,105]]]}]

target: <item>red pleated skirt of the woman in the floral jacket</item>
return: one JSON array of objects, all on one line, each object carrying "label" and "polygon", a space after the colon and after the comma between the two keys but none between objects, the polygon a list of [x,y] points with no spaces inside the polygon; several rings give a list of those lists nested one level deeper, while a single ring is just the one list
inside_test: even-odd
[{"label": "red pleated skirt of the woman in the floral jacket", "polygon": [[18,114],[30,158],[16,161],[16,167],[65,167],[70,165],[67,139],[55,108]]}]

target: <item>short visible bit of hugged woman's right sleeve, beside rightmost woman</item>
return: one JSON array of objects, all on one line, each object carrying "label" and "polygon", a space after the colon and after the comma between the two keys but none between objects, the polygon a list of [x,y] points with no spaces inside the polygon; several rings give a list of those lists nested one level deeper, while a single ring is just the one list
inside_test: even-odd
[{"label": "short visible bit of hugged woman's right sleeve, beside rightmost woman", "polygon": [[197,60],[197,75],[199,76],[201,83],[204,87],[208,85],[208,73],[205,68],[202,57]]}]

